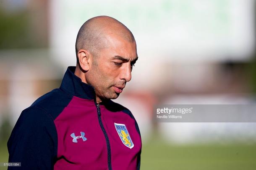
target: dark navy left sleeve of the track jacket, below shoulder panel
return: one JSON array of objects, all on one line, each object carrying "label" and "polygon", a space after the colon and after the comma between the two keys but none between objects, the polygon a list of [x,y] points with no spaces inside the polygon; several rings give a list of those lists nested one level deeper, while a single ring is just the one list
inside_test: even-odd
[{"label": "dark navy left sleeve of the track jacket, below shoulder panel", "polygon": [[29,107],[21,112],[7,143],[8,162],[21,162],[8,170],[53,170],[57,157],[57,131],[44,110]]}]

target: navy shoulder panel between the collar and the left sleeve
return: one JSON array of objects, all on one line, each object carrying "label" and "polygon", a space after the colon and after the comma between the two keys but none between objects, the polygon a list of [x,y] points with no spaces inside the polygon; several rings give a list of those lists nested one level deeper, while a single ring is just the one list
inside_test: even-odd
[{"label": "navy shoulder panel between the collar and the left sleeve", "polygon": [[50,114],[55,119],[69,104],[72,98],[72,95],[65,93],[61,89],[53,89],[40,96],[30,107],[44,110],[44,112]]}]

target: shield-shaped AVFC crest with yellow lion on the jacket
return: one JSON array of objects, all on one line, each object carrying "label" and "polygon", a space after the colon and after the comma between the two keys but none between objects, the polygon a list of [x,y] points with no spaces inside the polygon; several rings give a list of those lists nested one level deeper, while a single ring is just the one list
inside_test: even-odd
[{"label": "shield-shaped AVFC crest with yellow lion on the jacket", "polygon": [[133,148],[133,141],[131,140],[131,136],[125,127],[125,124],[119,124],[119,123],[114,123],[115,124],[115,129],[118,132],[118,135],[123,142],[123,144],[130,149]]}]

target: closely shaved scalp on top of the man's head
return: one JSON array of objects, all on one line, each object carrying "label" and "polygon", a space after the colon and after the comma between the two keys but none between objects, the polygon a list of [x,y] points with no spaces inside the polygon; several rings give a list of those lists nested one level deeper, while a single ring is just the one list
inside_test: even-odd
[{"label": "closely shaved scalp on top of the man's head", "polygon": [[78,61],[78,51],[88,50],[97,57],[99,51],[108,47],[107,36],[115,34],[126,41],[134,42],[135,39],[131,31],[115,18],[108,16],[97,16],[87,20],[78,31],[76,37],[76,61]]}]

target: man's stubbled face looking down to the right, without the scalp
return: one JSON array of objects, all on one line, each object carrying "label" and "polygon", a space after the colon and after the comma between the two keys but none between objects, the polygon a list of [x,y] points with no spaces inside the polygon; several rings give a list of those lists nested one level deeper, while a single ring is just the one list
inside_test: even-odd
[{"label": "man's stubbled face looking down to the right, without the scalp", "polygon": [[108,36],[107,41],[108,47],[94,58],[87,77],[100,101],[119,96],[126,82],[131,80],[131,71],[138,59],[135,41],[128,42],[113,35]]}]

